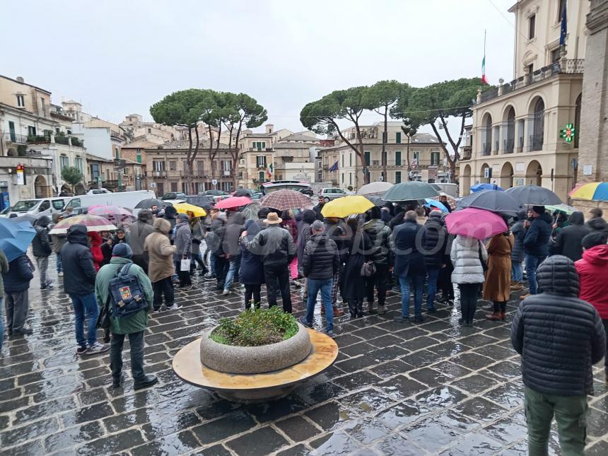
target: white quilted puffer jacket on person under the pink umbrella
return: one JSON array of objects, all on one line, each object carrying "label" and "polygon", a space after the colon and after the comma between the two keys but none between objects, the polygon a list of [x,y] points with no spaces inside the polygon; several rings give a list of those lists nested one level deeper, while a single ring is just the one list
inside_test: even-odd
[{"label": "white quilted puffer jacket on person under the pink umbrella", "polygon": [[453,283],[484,282],[484,268],[481,266],[479,252],[481,252],[484,262],[487,262],[488,251],[483,242],[469,236],[456,236],[450,252],[450,259],[454,265]]}]

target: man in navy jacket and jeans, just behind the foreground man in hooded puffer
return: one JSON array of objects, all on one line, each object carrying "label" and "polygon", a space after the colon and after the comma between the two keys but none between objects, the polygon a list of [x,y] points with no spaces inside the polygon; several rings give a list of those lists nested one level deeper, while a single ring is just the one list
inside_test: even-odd
[{"label": "man in navy jacket and jeans, just behind the foreground man in hooded puffer", "polygon": [[530,282],[530,293],[522,299],[537,293],[536,270],[549,255],[549,239],[551,238],[551,216],[544,210],[544,206],[532,206],[532,222],[524,238],[524,252],[526,254],[526,274]]}]

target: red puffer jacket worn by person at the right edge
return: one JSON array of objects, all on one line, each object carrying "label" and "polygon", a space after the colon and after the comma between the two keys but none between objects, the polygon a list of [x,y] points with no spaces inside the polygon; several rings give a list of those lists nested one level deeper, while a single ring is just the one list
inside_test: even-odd
[{"label": "red puffer jacket worn by person at the right edge", "polygon": [[578,297],[592,304],[602,320],[608,320],[608,245],[585,250],[574,265],[580,280]]}]

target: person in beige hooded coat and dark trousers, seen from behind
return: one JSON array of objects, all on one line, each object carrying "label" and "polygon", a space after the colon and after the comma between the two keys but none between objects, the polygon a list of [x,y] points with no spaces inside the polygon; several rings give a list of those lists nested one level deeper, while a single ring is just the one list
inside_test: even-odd
[{"label": "person in beige hooded coat and dark trousers, seen from behind", "polygon": [[152,226],[153,232],[144,242],[144,252],[148,254],[148,277],[154,291],[153,310],[158,312],[163,305],[163,294],[167,310],[177,310],[182,306],[173,302],[173,274],[175,264],[173,254],[177,247],[171,245],[169,232],[171,223],[165,218],[156,218]]}]

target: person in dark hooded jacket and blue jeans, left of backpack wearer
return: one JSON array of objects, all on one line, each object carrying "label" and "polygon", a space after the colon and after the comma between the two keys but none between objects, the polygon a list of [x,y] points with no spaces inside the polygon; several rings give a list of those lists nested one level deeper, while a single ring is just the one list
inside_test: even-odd
[{"label": "person in dark hooded jacket and blue jeans, left of backpack wearer", "polygon": [[[95,266],[86,236],[86,226],[74,225],[68,229],[67,242],[62,247],[64,264],[64,291],[68,293],[76,314],[76,353],[95,354],[110,349],[97,341],[99,308],[95,300]],[[84,337],[84,321],[88,318],[88,337]]]}]

